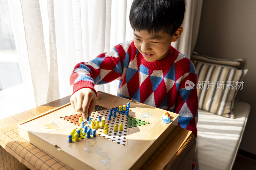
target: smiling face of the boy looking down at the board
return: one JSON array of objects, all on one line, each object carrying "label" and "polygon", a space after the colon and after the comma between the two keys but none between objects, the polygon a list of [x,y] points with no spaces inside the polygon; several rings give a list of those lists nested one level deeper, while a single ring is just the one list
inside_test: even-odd
[{"label": "smiling face of the boy looking down at the board", "polygon": [[164,59],[170,52],[173,36],[158,32],[134,31],[133,41],[135,47],[148,62]]}]

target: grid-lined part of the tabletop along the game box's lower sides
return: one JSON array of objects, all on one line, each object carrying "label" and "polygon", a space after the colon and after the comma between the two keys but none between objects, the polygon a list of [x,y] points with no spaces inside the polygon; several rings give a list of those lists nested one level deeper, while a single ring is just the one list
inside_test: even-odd
[{"label": "grid-lined part of the tabletop along the game box's lower sides", "polygon": [[[164,142],[157,148],[147,162],[141,167],[146,170],[154,160],[160,156],[165,147],[181,131],[182,128],[176,127]],[[4,131],[5,130],[5,131]],[[72,170],[60,160],[52,157],[19,136],[17,125],[13,128],[4,128],[0,131],[0,145],[21,163],[30,169],[38,170]]]}]

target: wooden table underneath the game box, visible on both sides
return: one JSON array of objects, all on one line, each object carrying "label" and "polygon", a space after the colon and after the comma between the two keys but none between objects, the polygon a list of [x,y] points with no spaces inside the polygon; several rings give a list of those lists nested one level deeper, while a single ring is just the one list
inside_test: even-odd
[{"label": "wooden table underneath the game box, visible on both sides", "polygon": [[[17,130],[18,123],[69,103],[69,99],[70,96],[63,97],[56,101],[46,103],[42,106],[0,120],[0,169],[26,170],[36,169],[35,166],[40,167],[38,169],[72,169],[60,160],[53,158],[51,155],[20,138]],[[15,144],[17,144],[17,146]],[[176,127],[141,169],[190,170],[194,157],[195,145],[196,138],[191,131]],[[36,159],[34,159],[36,161],[33,162],[33,159],[30,157],[36,157]],[[41,163],[40,166],[38,166],[39,163]]]}]

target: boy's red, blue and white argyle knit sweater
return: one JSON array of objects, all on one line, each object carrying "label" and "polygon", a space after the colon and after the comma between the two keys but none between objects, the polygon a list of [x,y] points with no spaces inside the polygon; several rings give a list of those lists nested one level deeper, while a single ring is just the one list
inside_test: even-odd
[{"label": "boy's red, blue and white argyle knit sweater", "polygon": [[[78,63],[70,85],[75,93],[82,88],[119,79],[118,96],[179,114],[179,126],[197,136],[198,101],[196,72],[192,62],[175,48],[160,61],[148,62],[133,40],[119,44],[88,62]],[[186,81],[194,84],[186,88]],[[97,92],[95,91],[96,95]]]}]

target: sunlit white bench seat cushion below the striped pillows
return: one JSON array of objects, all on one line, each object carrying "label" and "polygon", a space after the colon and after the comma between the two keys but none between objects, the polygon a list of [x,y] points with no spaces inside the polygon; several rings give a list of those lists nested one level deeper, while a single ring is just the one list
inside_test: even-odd
[{"label": "sunlit white bench seat cushion below the striped pillows", "polygon": [[250,105],[239,101],[233,111],[235,119],[198,110],[196,152],[199,170],[232,169]]}]

